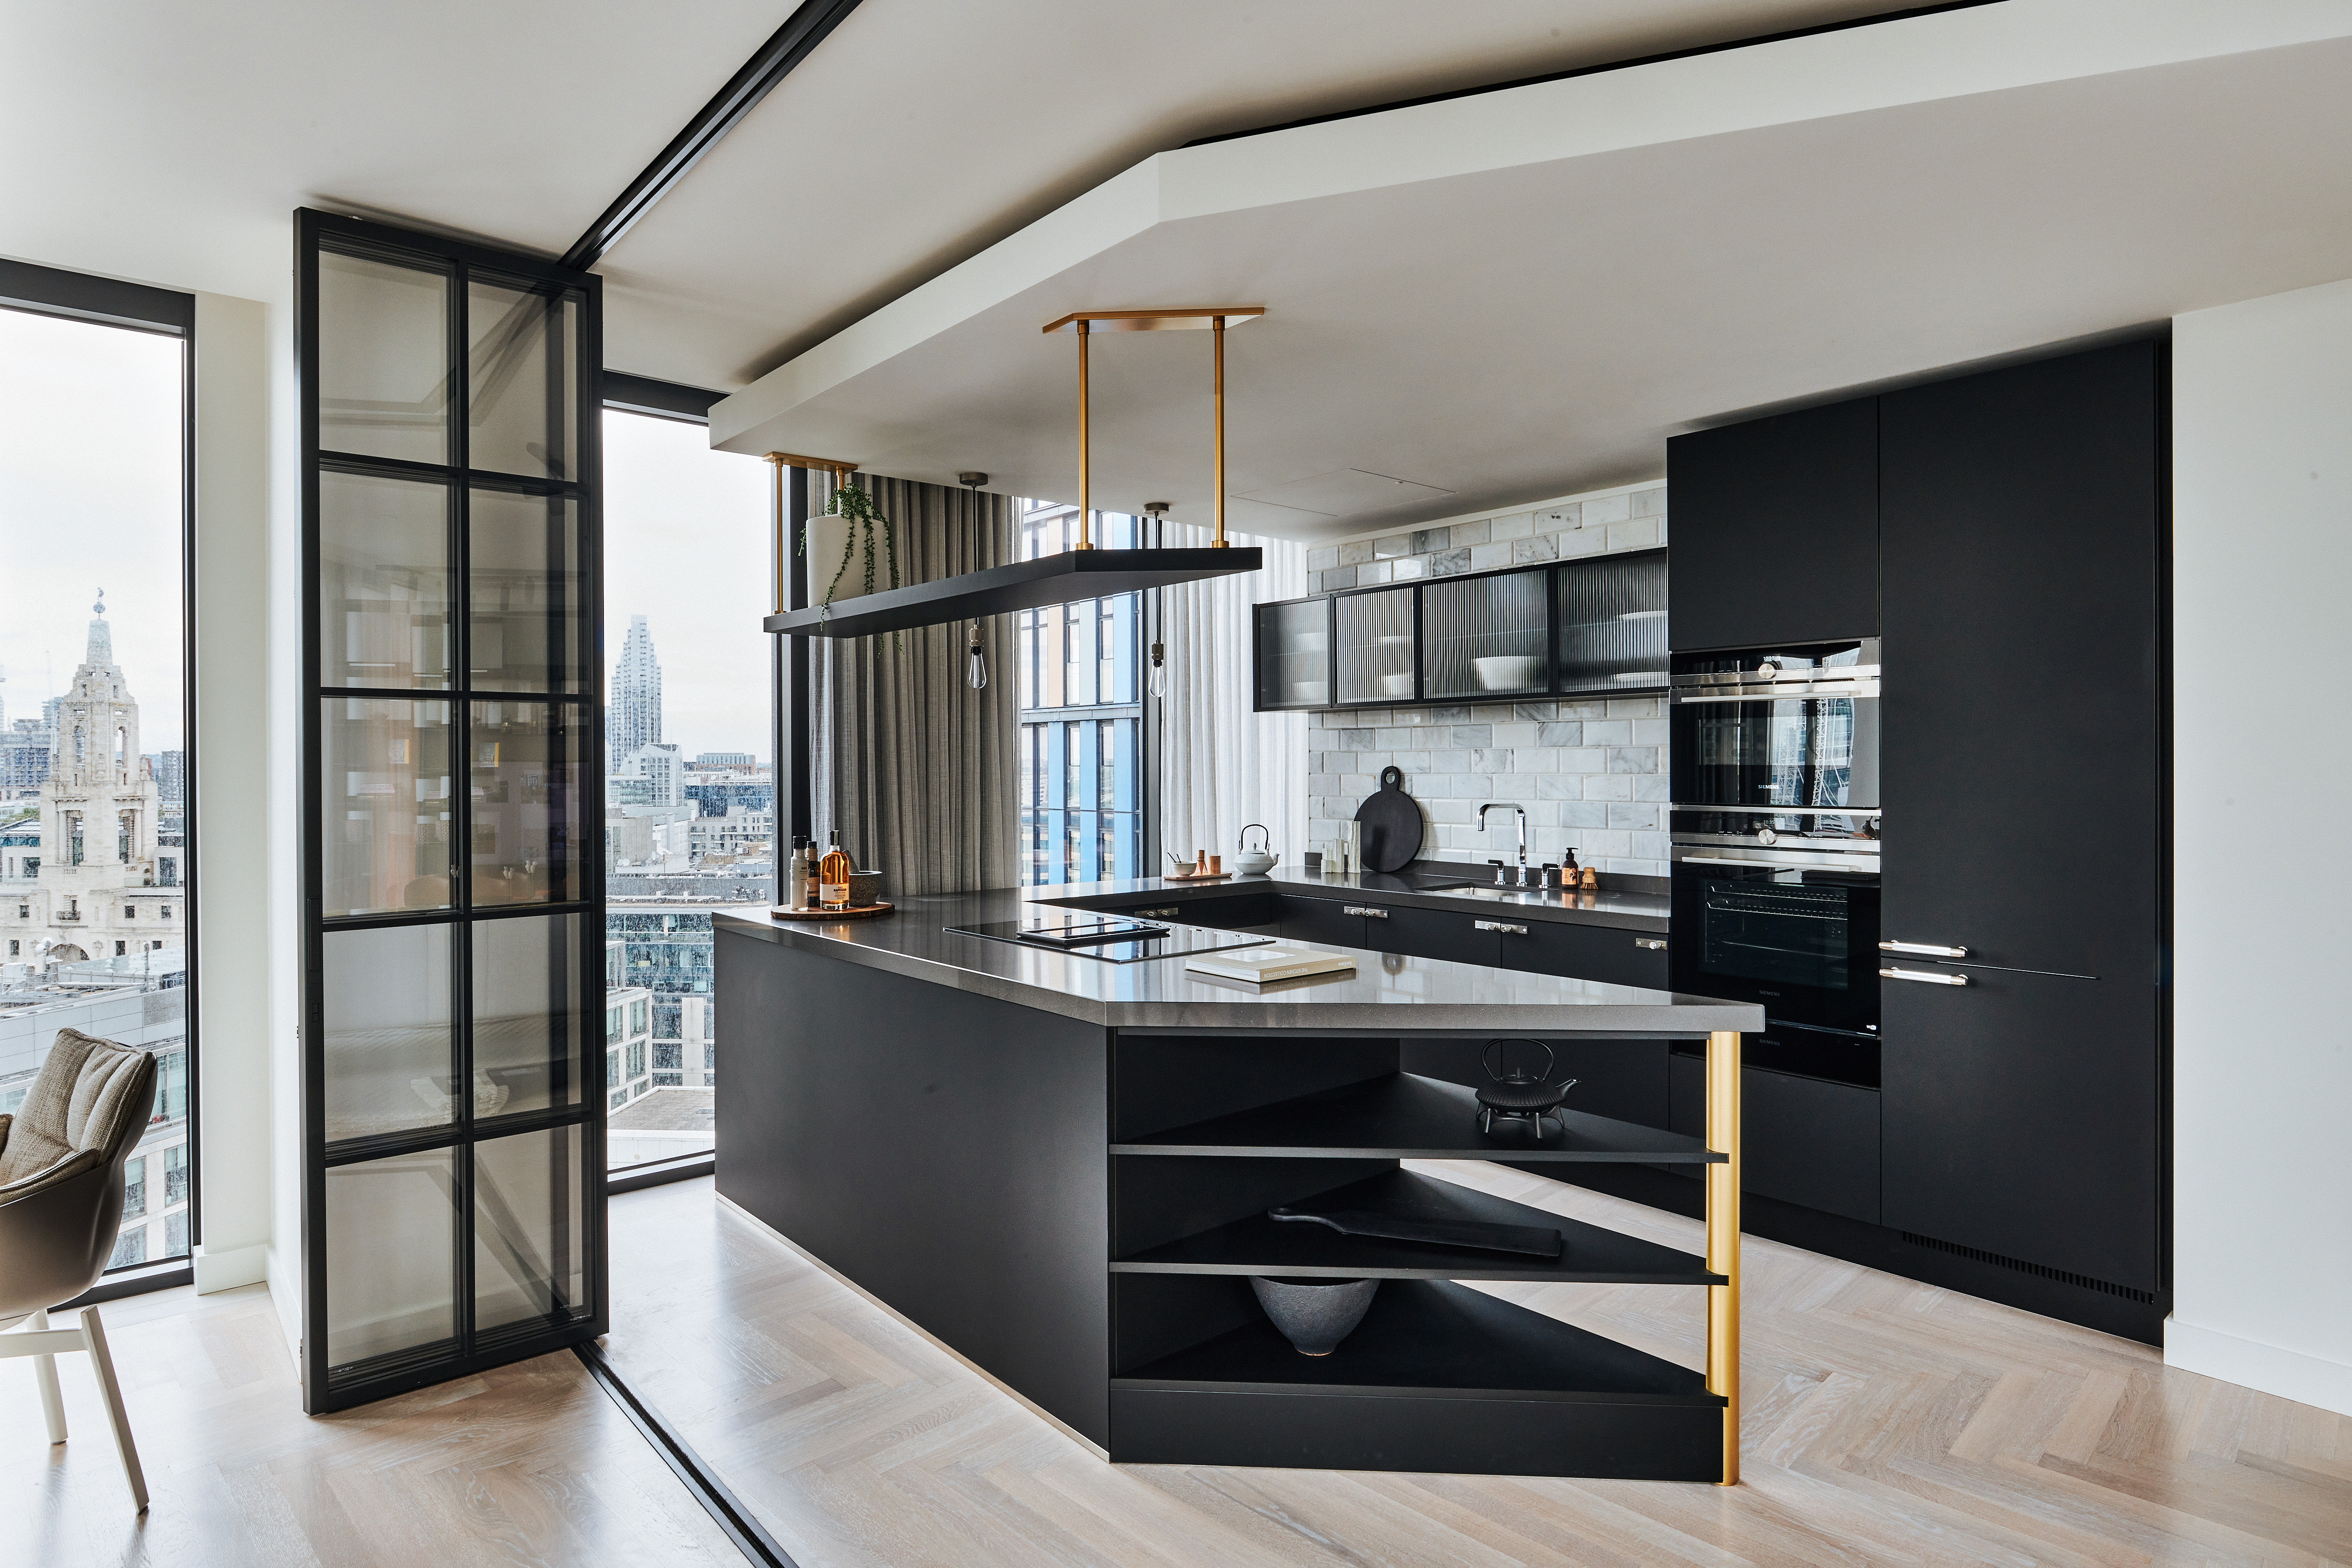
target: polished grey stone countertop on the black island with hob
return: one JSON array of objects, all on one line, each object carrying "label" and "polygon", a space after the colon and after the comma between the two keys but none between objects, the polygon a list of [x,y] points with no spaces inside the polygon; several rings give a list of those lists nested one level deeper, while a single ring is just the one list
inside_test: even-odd
[{"label": "polished grey stone countertop on the black island with hob", "polygon": [[[1352,976],[1308,976],[1272,985],[1223,983],[1190,973],[1181,957],[1105,964],[1075,952],[964,936],[948,926],[1018,919],[1030,903],[1073,893],[1150,891],[1152,882],[1098,882],[1084,889],[993,889],[929,893],[866,919],[804,922],[771,914],[715,914],[722,936],[748,936],[847,964],[929,980],[1103,1027],[1195,1030],[1381,1030],[1696,1037],[1755,1032],[1764,1009],[1712,997],[1566,980],[1559,976],[1352,952]],[[1223,884],[1230,886],[1230,884]],[[1181,889],[1192,891],[1192,889]],[[1174,922],[1171,922],[1174,924]]]}]

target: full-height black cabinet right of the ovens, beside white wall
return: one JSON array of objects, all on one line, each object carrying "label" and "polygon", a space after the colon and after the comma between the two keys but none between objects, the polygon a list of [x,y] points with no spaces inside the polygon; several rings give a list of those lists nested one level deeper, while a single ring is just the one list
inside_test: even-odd
[{"label": "full-height black cabinet right of the ovens, beside white wall", "polygon": [[[2157,343],[1879,402],[1884,1222],[2161,1286]],[[1679,574],[1677,574],[1679,576]]]}]

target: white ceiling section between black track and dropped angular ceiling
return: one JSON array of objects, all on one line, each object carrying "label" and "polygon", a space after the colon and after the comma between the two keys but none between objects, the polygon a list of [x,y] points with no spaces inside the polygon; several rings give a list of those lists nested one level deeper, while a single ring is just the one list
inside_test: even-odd
[{"label": "white ceiling section between black track and dropped angular ceiling", "polygon": [[604,362],[734,390],[1195,136],[1886,9],[863,0],[597,268]]}]

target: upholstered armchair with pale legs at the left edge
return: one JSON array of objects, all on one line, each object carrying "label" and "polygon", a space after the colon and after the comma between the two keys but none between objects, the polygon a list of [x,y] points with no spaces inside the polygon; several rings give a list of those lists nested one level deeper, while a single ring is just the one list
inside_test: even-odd
[{"label": "upholstered armchair with pale legs at the left edge", "polygon": [[0,1117],[0,1356],[33,1356],[49,1441],[66,1441],[56,1354],[89,1352],[132,1497],[146,1476],[96,1307],[75,1328],[49,1328],[106,1272],[122,1225],[122,1166],[155,1107],[155,1058],[80,1030],[59,1030],[14,1117]]}]

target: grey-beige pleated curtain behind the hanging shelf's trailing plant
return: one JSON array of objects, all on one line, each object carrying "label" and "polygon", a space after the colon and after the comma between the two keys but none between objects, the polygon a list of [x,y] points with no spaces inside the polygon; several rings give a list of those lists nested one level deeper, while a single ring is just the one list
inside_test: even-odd
[{"label": "grey-beige pleated curtain behind the hanging shelf's trailing plant", "polygon": [[[858,475],[891,520],[898,581],[936,578],[1011,559],[1011,501],[1004,496]],[[809,512],[833,494],[809,475]],[[809,536],[809,597],[823,599],[842,562],[842,529],[818,522]],[[875,557],[875,588],[889,564]],[[835,597],[866,590],[863,557]],[[818,637],[814,665],[816,842],[840,827],[861,870],[882,872],[882,896],[915,898],[1014,884],[1014,668],[1011,618],[981,621],[988,686],[964,679],[969,621],[880,637]]]}]

